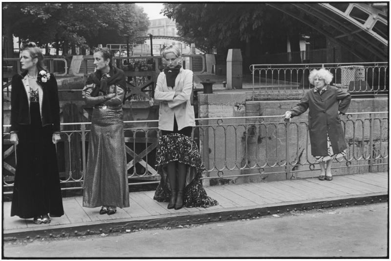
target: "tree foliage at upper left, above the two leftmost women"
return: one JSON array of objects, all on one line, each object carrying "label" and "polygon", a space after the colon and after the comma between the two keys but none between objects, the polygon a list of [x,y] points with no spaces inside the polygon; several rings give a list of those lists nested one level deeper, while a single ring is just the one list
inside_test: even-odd
[{"label": "tree foliage at upper left, above the two leftmost women", "polygon": [[124,34],[149,26],[143,8],[132,3],[3,3],[2,15],[6,34],[40,46],[123,43]]}]

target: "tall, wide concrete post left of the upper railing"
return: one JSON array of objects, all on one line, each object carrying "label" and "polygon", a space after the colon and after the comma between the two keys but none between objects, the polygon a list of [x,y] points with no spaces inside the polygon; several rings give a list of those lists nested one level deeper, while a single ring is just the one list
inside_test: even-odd
[{"label": "tall, wide concrete post left of the upper railing", "polygon": [[229,49],[227,55],[227,90],[243,88],[243,68],[240,49]]}]

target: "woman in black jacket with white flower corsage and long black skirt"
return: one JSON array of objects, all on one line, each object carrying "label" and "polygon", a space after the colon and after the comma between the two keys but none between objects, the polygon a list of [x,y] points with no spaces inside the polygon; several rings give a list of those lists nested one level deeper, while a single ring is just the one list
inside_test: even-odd
[{"label": "woman in black jacket with white flower corsage and long black skirt", "polygon": [[10,141],[17,145],[11,216],[50,223],[49,215],[64,215],[55,146],[61,140],[57,81],[33,42],[23,46],[21,65],[24,72],[11,83]]}]

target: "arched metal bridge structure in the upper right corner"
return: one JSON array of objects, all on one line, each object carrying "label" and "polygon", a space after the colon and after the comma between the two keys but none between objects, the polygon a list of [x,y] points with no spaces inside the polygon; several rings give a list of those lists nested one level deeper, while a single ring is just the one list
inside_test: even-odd
[{"label": "arched metal bridge structure in the upper right corner", "polygon": [[364,61],[388,60],[387,10],[374,8],[372,3],[267,5],[311,26]]}]

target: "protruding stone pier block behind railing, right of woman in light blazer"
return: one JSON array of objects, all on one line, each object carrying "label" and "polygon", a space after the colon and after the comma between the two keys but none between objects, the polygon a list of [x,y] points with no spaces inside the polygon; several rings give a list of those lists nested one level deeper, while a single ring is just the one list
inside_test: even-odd
[{"label": "protruding stone pier block behind railing, right of woman in light blazer", "polygon": [[[236,92],[198,93],[199,118],[245,116],[245,99],[245,94]],[[245,120],[223,120],[219,123],[220,125],[217,125],[217,120],[200,120],[199,122],[200,151],[205,168],[212,170],[209,172],[210,177],[238,175],[241,173],[239,168],[243,165],[245,155],[244,143],[242,142],[243,134],[246,131]],[[235,129],[232,126],[227,126],[227,124],[239,124],[239,127]],[[218,172],[226,164],[228,168],[233,170]],[[220,180],[211,180],[211,182],[204,180],[204,185],[214,185],[216,182],[237,182],[237,178],[224,177]]]}]

